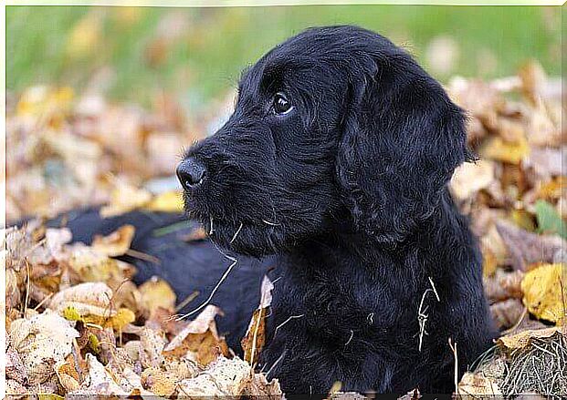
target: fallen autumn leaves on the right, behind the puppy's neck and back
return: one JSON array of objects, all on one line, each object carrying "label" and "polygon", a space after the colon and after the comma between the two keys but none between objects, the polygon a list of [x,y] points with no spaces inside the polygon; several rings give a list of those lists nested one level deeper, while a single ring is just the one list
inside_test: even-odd
[{"label": "fallen autumn leaves on the right, behind the puppy's neck and back", "polygon": [[[555,85],[561,85],[555,83]],[[535,63],[517,77],[455,78],[480,160],[451,182],[483,255],[485,292],[503,337],[461,394],[567,395],[567,177],[561,98]]]}]

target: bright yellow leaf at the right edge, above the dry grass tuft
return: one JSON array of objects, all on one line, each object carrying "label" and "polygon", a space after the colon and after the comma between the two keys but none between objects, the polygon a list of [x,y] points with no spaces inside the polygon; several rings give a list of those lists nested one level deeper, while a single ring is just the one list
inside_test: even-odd
[{"label": "bright yellow leaf at the right edge, above the dry grass tuft", "polygon": [[523,302],[530,313],[536,317],[559,323],[564,317],[565,303],[562,287],[567,288],[563,276],[567,273],[566,264],[543,264],[526,273],[521,282],[524,293]]}]

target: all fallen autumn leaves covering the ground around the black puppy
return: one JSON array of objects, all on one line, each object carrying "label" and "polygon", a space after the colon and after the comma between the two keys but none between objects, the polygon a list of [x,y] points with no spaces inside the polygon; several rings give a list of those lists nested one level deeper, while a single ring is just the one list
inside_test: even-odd
[{"label": "all fallen autumn leaves covering the ground around the black puppy", "polygon": [[[447,85],[469,111],[468,142],[479,156],[457,169],[451,190],[478,235],[503,331],[463,377],[461,394],[567,386],[565,116],[552,86],[536,64],[516,77]],[[94,203],[105,205],[103,215],[181,210],[176,192],[141,185],[170,175],[175,154],[194,139],[187,132],[205,131],[182,114],[166,98],[147,114],[49,87],[8,98],[8,221]],[[133,235],[125,226],[87,246],[39,222],[4,232],[8,393],[280,395],[276,381],[250,367],[265,341],[270,283],[244,341],[247,364],[216,332],[221,310],[209,305],[179,320],[175,303],[185,299],[166,282],[131,282],[134,268],[115,257],[131,251]]]}]

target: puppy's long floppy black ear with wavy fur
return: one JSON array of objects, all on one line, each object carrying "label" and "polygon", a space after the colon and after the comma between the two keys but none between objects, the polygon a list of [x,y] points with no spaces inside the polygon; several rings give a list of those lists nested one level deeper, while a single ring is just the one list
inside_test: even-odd
[{"label": "puppy's long floppy black ear with wavy fur", "polygon": [[353,57],[336,165],[356,228],[401,241],[436,210],[453,171],[472,157],[462,110],[387,43]]}]

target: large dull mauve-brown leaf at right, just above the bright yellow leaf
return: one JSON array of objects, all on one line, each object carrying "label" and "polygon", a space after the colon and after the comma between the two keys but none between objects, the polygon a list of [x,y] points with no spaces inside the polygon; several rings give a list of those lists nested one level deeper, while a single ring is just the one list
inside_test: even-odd
[{"label": "large dull mauve-brown leaf at right, just above the bright yellow leaf", "polygon": [[534,262],[554,262],[564,259],[566,242],[557,236],[542,236],[524,231],[507,221],[498,221],[496,228],[506,244],[512,266],[527,271]]}]

